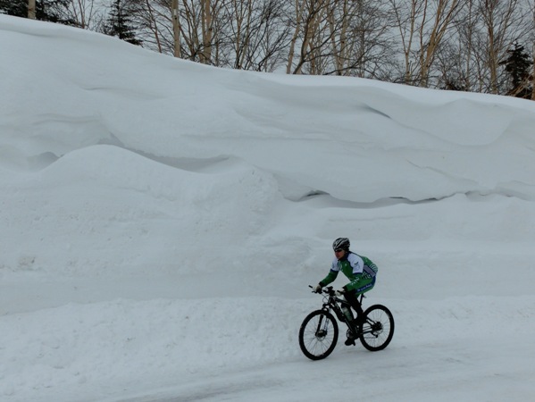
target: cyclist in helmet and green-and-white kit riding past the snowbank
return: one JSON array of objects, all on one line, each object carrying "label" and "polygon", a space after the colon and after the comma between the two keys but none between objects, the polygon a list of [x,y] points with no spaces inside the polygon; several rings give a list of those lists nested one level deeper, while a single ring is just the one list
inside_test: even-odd
[{"label": "cyclist in helmet and green-and-white kit riding past the snowbank", "polygon": [[[349,283],[337,290],[337,296],[345,297],[347,303],[355,309],[356,319],[354,324],[355,327],[358,327],[362,323],[360,320],[364,318],[364,312],[357,297],[373,289],[378,268],[369,258],[349,250],[349,246],[350,242],[347,238],[339,238],[333,241],[332,249],[334,250],[335,258],[330,265],[330,272],[316,285],[314,291],[321,293],[322,288],[333,282],[340,271],[344,272],[349,279]],[[355,338],[348,337],[346,345],[355,345]]]}]

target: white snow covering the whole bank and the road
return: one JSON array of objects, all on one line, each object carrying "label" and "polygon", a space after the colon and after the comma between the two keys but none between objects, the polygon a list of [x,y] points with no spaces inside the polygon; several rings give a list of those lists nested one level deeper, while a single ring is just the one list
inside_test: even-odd
[{"label": "white snow covering the whole bank and the road", "polygon": [[[0,48],[0,400],[535,395],[534,103],[4,15]],[[312,362],[339,236],[396,332]]]}]

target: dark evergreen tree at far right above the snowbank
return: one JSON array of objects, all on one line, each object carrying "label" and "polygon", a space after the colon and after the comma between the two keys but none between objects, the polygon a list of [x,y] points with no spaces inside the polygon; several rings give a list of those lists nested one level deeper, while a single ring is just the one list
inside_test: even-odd
[{"label": "dark evergreen tree at far right above the snowbank", "polygon": [[514,43],[514,49],[507,50],[509,57],[502,62],[511,77],[512,88],[509,95],[531,98],[531,56],[524,50],[524,46]]}]

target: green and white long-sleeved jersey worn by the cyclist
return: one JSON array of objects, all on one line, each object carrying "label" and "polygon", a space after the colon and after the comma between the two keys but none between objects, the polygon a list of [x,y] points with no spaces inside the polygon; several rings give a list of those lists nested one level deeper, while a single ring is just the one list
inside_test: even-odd
[{"label": "green and white long-sleeved jersey worn by the cyclist", "polygon": [[322,286],[329,285],[337,278],[340,271],[349,280],[344,288],[346,290],[356,289],[357,292],[360,292],[372,289],[378,268],[369,258],[349,251],[347,256],[341,260],[335,258],[332,261],[329,274],[320,281],[320,284]]}]

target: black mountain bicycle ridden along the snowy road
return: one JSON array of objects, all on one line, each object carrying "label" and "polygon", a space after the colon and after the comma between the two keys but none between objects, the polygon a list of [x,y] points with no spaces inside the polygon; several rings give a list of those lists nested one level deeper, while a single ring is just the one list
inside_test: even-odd
[{"label": "black mountain bicycle ridden along the snowy road", "polygon": [[[309,285],[309,288],[312,286]],[[394,316],[386,306],[373,305],[364,311],[364,317],[353,319],[351,306],[329,286],[322,289],[323,306],[308,314],[299,329],[299,347],[306,357],[321,360],[329,356],[339,339],[340,322],[347,325],[347,338],[360,339],[364,348],[376,352],[389,346],[394,336]],[[362,306],[364,294],[358,298]],[[348,314],[347,314],[348,313]]]}]

